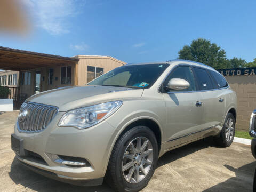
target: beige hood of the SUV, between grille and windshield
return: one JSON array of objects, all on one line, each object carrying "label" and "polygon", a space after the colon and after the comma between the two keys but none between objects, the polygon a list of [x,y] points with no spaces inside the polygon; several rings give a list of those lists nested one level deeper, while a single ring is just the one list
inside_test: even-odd
[{"label": "beige hood of the SUV, between grille and windshield", "polygon": [[73,86],[62,87],[35,94],[27,101],[57,106],[59,111],[67,111],[98,103],[140,98],[143,89],[113,86]]}]

